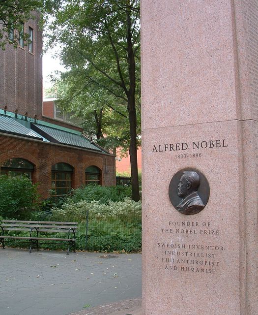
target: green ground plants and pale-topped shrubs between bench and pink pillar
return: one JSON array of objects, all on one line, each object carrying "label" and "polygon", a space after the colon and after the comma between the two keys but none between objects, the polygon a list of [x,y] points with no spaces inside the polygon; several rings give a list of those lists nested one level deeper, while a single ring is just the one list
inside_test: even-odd
[{"label": "green ground plants and pale-topped shrubs between bench and pink pillar", "polygon": [[[67,200],[61,208],[53,208],[53,221],[79,221],[77,246],[86,246],[86,218],[88,216],[88,251],[137,252],[142,245],[141,202],[129,198],[101,204],[99,201],[78,203]],[[88,214],[87,214],[88,213]],[[78,219],[79,218],[79,219]]]}]

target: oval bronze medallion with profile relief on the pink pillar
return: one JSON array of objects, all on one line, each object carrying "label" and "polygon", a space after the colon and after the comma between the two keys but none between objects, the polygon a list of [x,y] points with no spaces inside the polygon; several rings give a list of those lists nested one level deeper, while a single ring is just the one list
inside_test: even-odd
[{"label": "oval bronze medallion with profile relief on the pink pillar", "polygon": [[195,215],[203,210],[209,200],[209,183],[200,171],[184,168],[172,177],[169,196],[178,212],[184,215]]}]

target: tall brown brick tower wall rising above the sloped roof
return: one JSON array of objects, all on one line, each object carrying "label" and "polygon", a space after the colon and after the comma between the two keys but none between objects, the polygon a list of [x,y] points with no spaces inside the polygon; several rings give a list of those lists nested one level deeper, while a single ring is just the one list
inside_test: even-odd
[{"label": "tall brown brick tower wall rising above the sloped roof", "polygon": [[7,44],[0,49],[0,108],[9,112],[41,119],[42,113],[42,32],[38,29],[39,13],[35,20],[25,23],[25,32],[33,29],[33,53],[25,48]]}]

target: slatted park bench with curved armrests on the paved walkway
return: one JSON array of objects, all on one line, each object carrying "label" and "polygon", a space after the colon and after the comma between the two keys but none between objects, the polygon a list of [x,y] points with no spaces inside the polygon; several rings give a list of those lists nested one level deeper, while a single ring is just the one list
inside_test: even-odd
[{"label": "slatted park bench with curved armrests on the paved walkway", "polygon": [[[31,252],[32,246],[39,249],[39,241],[58,241],[68,243],[67,254],[70,247],[75,252],[75,234],[78,228],[77,222],[55,222],[55,221],[18,221],[18,220],[2,220],[0,223],[0,243],[4,249],[4,240],[29,240]],[[22,236],[11,236],[12,232],[24,232]],[[48,233],[55,233],[53,237],[47,237]],[[60,234],[65,234],[66,237]],[[8,235],[9,234],[9,235]]]}]

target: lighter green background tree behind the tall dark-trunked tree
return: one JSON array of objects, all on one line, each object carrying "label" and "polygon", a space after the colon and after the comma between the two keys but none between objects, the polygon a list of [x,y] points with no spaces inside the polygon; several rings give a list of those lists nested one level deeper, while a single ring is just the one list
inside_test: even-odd
[{"label": "lighter green background tree behind the tall dark-trunked tree", "polygon": [[[86,136],[106,149],[119,147],[128,152],[130,146],[127,103],[86,79],[87,70],[71,69],[55,80],[57,105],[64,112],[80,117]],[[137,115],[137,135],[141,133],[140,110]],[[140,145],[140,139],[137,146]]]}]

